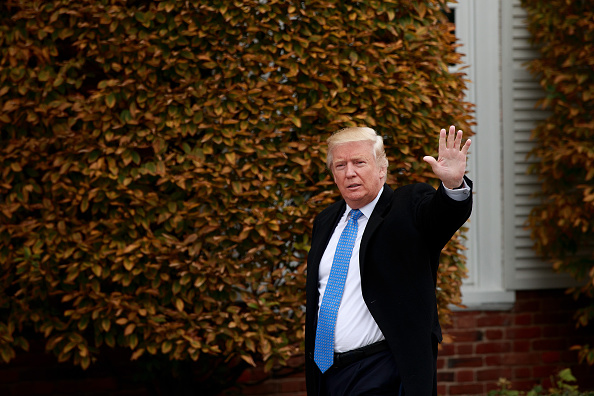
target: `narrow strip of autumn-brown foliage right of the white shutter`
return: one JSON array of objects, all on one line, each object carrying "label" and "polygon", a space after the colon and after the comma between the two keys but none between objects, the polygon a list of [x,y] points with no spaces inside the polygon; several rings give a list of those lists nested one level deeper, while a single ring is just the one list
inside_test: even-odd
[{"label": "narrow strip of autumn-brown foliage right of the white shutter", "polygon": [[[558,271],[583,281],[569,290],[590,299],[576,325],[594,318],[594,7],[581,0],[522,0],[528,28],[541,57],[530,62],[546,92],[541,105],[551,115],[533,131],[542,181],[542,204],[528,223],[536,250]],[[580,357],[594,364],[594,346]]]}]

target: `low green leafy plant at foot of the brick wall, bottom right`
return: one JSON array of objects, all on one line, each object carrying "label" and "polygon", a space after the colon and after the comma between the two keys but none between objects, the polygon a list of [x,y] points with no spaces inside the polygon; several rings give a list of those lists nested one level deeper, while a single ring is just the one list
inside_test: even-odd
[{"label": "low green leafy plant at foot of the brick wall, bottom right", "polygon": [[563,369],[555,378],[551,378],[553,384],[551,388],[544,389],[542,385],[535,385],[534,388],[528,392],[522,392],[510,389],[511,382],[506,378],[499,378],[497,386],[499,389],[489,392],[489,396],[594,396],[594,391],[580,391],[578,385],[572,383],[576,382],[576,378],[571,373],[571,369]]}]

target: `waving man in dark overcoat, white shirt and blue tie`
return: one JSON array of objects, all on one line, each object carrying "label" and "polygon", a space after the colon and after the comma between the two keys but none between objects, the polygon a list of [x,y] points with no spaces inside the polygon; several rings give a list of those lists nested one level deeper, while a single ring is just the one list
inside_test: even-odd
[{"label": "waving man in dark overcoat, white shirt and blue tie", "polygon": [[385,184],[381,136],[346,128],[328,139],[342,199],[315,219],[307,264],[309,396],[436,395],[439,255],[472,209],[464,176],[470,140],[442,129],[427,156],[435,190]]}]

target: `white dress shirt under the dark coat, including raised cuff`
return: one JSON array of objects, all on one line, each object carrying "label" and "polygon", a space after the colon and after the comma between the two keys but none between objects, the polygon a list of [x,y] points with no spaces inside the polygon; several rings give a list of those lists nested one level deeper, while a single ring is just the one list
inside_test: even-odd
[{"label": "white dress shirt under the dark coat, including raised cuff", "polygon": [[[466,181],[464,182],[463,187],[459,189],[451,190],[445,186],[444,188],[446,194],[456,201],[463,201],[470,194],[470,188],[466,184]],[[363,300],[363,294],[361,292],[361,272],[359,271],[359,248],[361,246],[361,237],[363,236],[367,222],[383,191],[384,188],[382,187],[373,201],[359,209],[363,213],[363,216],[359,217],[357,223],[357,238],[355,240],[355,246],[353,247],[351,261],[349,262],[349,270],[347,272],[342,300],[340,307],[338,308],[336,328],[334,331],[335,352],[347,352],[384,339],[384,335],[373,319],[373,316],[371,316],[371,313]],[[318,301],[318,309],[322,304],[322,298],[324,297],[324,291],[326,290],[326,284],[328,283],[332,261],[334,260],[334,253],[338,246],[338,240],[340,234],[342,234],[342,231],[347,225],[347,216],[350,211],[351,208],[349,205],[346,205],[346,211],[336,225],[334,233],[328,242],[322,260],[320,261],[318,282],[320,299]]]}]

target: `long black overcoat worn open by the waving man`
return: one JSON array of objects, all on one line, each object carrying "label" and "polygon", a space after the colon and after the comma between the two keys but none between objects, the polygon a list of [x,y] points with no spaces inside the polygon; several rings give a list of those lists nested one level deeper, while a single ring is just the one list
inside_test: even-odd
[{"label": "long black overcoat worn open by the waving man", "polygon": [[[466,179],[472,188],[472,182]],[[346,209],[335,202],[314,220],[307,259],[305,361],[307,394],[318,395],[320,371],[313,360],[318,311],[318,269]],[[439,255],[472,210],[447,196],[443,185],[411,184],[384,191],[369,219],[359,252],[365,304],[386,337],[407,396],[437,394],[437,344],[441,327],[435,287]]]}]

